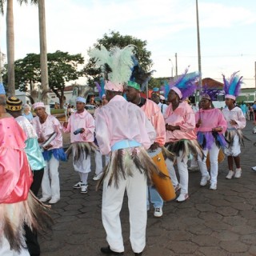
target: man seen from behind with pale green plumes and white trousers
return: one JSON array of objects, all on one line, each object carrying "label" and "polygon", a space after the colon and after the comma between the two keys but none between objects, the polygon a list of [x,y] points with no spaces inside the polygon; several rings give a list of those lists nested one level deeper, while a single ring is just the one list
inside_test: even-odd
[{"label": "man seen from behind with pale green plumes and white trousers", "polygon": [[158,172],[146,153],[155,140],[154,127],[138,106],[122,97],[123,85],[129,80],[134,66],[133,50],[134,46],[126,46],[109,52],[101,46],[101,49],[89,53],[97,66],[109,67],[104,86],[109,102],[98,110],[95,120],[99,149],[102,154],[110,155],[110,162],[101,178],[102,222],[109,244],[101,248],[103,254],[123,255],[119,214],[126,191],[130,243],[134,254],[142,255],[146,246],[146,182],[152,172]]}]

